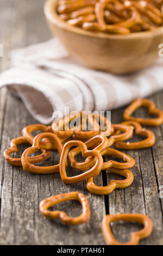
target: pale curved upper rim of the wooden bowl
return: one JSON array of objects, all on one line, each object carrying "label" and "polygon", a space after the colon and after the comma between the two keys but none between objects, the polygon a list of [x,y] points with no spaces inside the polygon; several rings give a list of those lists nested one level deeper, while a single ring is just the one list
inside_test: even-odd
[{"label": "pale curved upper rim of the wooden bowl", "polygon": [[121,34],[106,34],[102,32],[91,32],[85,31],[82,28],[78,28],[76,26],[70,26],[65,21],[62,21],[57,14],[57,3],[59,0],[46,0],[44,4],[44,13],[46,18],[51,21],[55,26],[58,26],[66,31],[91,36],[93,38],[104,38],[104,39],[135,39],[135,38],[150,38],[156,35],[163,34],[163,26],[156,28],[154,31],[143,31],[143,32],[135,32],[129,33],[127,35]]}]

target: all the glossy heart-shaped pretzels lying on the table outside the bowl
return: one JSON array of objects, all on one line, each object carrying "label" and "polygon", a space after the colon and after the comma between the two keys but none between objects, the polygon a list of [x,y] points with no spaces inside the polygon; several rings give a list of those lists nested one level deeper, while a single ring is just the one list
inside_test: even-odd
[{"label": "all the glossy heart-shaped pretzels lying on the table outside the bowl", "polygon": [[[148,113],[155,115],[152,119],[142,119],[131,117],[131,114],[139,107],[147,107]],[[98,120],[103,121],[105,130],[101,129]],[[152,147],[155,143],[155,135],[151,130],[143,128],[141,125],[158,126],[163,123],[163,111],[156,108],[151,100],[136,99],[129,105],[124,113],[124,122],[121,124],[111,124],[104,115],[98,113],[94,118],[89,120],[89,114],[85,117],[82,113],[78,113],[75,118],[80,118],[87,125],[91,122],[92,130],[80,130],[79,127],[74,129],[66,129],[70,121],[74,119],[74,115],[66,116],[59,121],[54,121],[52,126],[42,124],[29,125],[22,130],[22,137],[15,138],[10,143],[10,148],[4,151],[4,158],[13,166],[22,166],[26,172],[35,174],[60,173],[61,180],[65,184],[73,184],[80,181],[86,181],[88,191],[98,195],[111,193],[116,188],[126,188],[133,182],[133,173],[128,170],[135,165],[135,160],[127,154],[118,151],[117,149],[142,149]],[[84,119],[84,120],[83,120]],[[64,125],[64,130],[61,130],[61,125]],[[35,137],[32,132],[41,130]],[[145,137],[141,142],[124,142],[133,136],[133,132]],[[27,148],[21,159],[15,159],[10,156],[11,153],[17,151],[17,145],[21,143],[29,143],[31,146]],[[111,148],[114,146],[114,148]],[[73,147],[73,149],[71,149]],[[41,150],[40,155],[28,157],[30,154]],[[58,150],[60,154],[60,162],[54,166],[42,167],[36,166],[34,163],[45,161],[51,156],[51,150]],[[75,157],[82,153],[86,157],[84,162],[77,162]],[[103,161],[103,156],[115,156],[123,162],[110,160]],[[74,169],[81,173],[76,176],[67,176],[67,166],[70,161]],[[97,176],[102,170],[108,170],[111,173],[123,176],[124,180],[111,180],[107,186],[97,186],[93,182],[93,177]],[[66,200],[78,200],[83,206],[83,213],[78,217],[69,217],[63,211],[51,211],[49,207]],[[42,200],[40,203],[40,211],[47,218],[60,218],[66,224],[81,224],[90,220],[91,212],[89,202],[86,197],[79,192],[70,192],[59,194]],[[108,245],[121,245],[111,233],[110,222],[112,221],[136,221],[141,222],[145,227],[132,233],[131,240],[122,245],[137,245],[139,240],[151,234],[153,225],[150,218],[142,214],[117,214],[106,215],[102,221],[102,233]]]}]

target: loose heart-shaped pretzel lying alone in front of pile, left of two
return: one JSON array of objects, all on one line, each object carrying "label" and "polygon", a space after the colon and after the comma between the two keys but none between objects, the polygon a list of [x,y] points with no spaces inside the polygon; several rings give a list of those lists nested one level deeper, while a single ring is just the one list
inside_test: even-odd
[{"label": "loose heart-shaped pretzel lying alone in front of pile, left of two", "polygon": [[[64,211],[49,211],[49,207],[65,202],[67,200],[78,200],[82,204],[83,212],[78,217],[69,217]],[[84,194],[79,192],[70,192],[66,194],[58,194],[57,196],[49,197],[41,201],[39,205],[41,214],[47,218],[60,218],[60,220],[68,225],[82,224],[90,220],[91,211],[90,205]]]}]

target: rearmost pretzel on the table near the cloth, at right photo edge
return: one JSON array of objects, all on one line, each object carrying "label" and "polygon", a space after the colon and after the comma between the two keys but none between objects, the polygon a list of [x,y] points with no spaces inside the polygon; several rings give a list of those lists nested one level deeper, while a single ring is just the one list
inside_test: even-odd
[{"label": "rearmost pretzel on the table near the cloth, at right photo edge", "polygon": [[[151,119],[131,117],[131,114],[133,114],[133,112],[139,107],[147,107],[148,114],[156,115],[157,117],[151,118]],[[137,98],[124,110],[123,118],[124,118],[124,120],[137,121],[138,123],[140,123],[142,125],[158,126],[163,123],[163,111],[156,108],[153,101]]]}]

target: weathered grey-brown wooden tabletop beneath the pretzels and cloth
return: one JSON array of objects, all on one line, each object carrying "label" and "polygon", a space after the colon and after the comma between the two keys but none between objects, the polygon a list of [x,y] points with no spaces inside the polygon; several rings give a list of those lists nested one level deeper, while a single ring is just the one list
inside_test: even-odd
[{"label": "weathered grey-brown wooden tabletop beneath the pretzels and cloth", "polygon": [[[0,0],[0,43],[4,46],[4,57],[0,58],[0,71],[7,68],[8,53],[13,48],[23,47],[51,38],[43,16],[43,0]],[[115,190],[109,196],[95,196],[85,188],[85,182],[64,185],[59,174],[34,175],[21,167],[12,167],[3,159],[3,151],[12,138],[21,136],[24,126],[36,121],[27,112],[21,100],[11,96],[6,89],[0,90],[0,184],[3,194],[1,210],[1,245],[104,245],[101,221],[106,214],[141,213],[152,218],[154,230],[141,245],[162,245],[163,199],[159,198],[159,186],[163,185],[163,126],[152,128],[156,143],[152,148],[126,151],[134,157],[132,168],[133,184],[125,190]],[[151,97],[163,109],[163,92]],[[112,111],[112,123],[122,121],[123,108]],[[139,115],[145,114],[143,111]],[[28,146],[27,146],[28,147]],[[19,147],[20,155],[25,147]],[[16,155],[15,155],[16,156]],[[105,157],[105,160],[107,158]],[[58,162],[53,153],[46,165]],[[72,173],[74,170],[72,170]],[[77,172],[75,172],[77,173]],[[106,185],[110,179],[120,179],[117,175],[101,173],[95,182]],[[39,212],[39,202],[52,195],[69,191],[85,194],[91,206],[91,220],[83,225],[67,227],[59,220],[50,221]],[[82,208],[77,202],[61,203],[57,209],[65,210],[71,216],[80,214]],[[56,208],[55,207],[55,208]],[[129,239],[131,231],[141,229],[141,225],[115,223],[112,230],[120,241]]]}]

